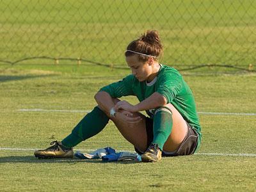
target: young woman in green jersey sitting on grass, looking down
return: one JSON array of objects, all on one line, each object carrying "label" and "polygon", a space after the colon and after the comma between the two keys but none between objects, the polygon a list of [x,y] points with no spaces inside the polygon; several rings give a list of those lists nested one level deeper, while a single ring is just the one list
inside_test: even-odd
[{"label": "young woman in green jersey sitting on grass, looking down", "polygon": [[[52,142],[52,147],[36,150],[35,156],[74,157],[72,148],[102,131],[109,119],[144,162],[193,154],[201,140],[193,93],[175,68],[159,63],[157,58],[162,52],[157,31],[147,31],[132,41],[125,51],[132,74],[101,88],[95,95],[98,106],[84,116],[71,134]],[[138,104],[118,99],[127,95],[136,96]],[[146,111],[148,116],[140,111]]]}]

